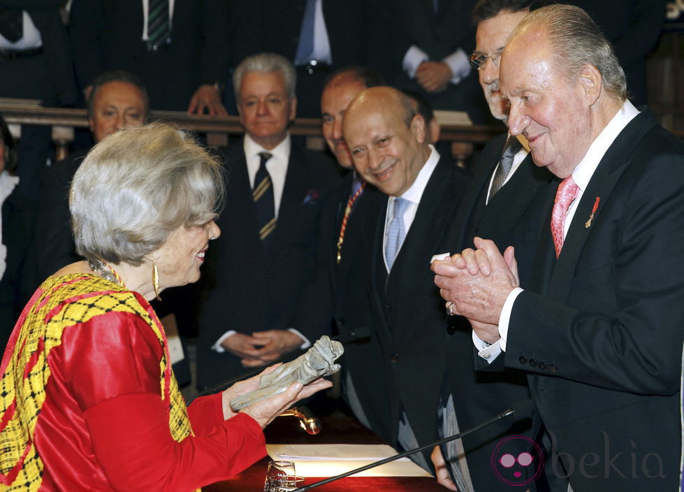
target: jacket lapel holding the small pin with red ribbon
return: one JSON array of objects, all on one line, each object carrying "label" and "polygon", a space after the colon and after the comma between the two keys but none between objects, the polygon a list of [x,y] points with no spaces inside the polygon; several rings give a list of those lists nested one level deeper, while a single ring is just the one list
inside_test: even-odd
[{"label": "jacket lapel holding the small pin with red ribbon", "polygon": [[[592,175],[587,189],[577,205],[572,224],[568,229],[563,242],[563,249],[558,262],[553,269],[553,276],[549,284],[548,296],[565,300],[567,298],[574,270],[582,249],[590,233],[602,220],[601,212],[606,201],[610,198],[616,183],[623,175],[623,171],[630,161],[630,155],[634,147],[638,145],[643,135],[655,125],[655,120],[650,115],[637,115],[618,135],[599,162],[596,171]],[[588,222],[592,208],[600,198],[598,208],[589,227]]]}]

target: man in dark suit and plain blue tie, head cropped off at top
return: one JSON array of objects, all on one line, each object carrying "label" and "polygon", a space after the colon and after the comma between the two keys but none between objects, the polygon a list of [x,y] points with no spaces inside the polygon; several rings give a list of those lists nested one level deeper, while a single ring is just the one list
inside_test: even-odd
[{"label": "man in dark suit and plain blue tie, head cropped off at top", "polygon": [[328,75],[344,66],[381,62],[377,54],[386,52],[389,41],[379,24],[388,12],[377,13],[378,1],[233,0],[228,6],[231,66],[263,51],[283,55],[296,66],[298,116],[319,117]]}]

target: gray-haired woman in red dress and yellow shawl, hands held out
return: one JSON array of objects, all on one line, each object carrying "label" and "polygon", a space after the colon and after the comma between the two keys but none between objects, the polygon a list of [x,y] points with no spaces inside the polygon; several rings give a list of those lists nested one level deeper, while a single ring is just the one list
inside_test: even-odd
[{"label": "gray-haired woman in red dress and yellow shawl, hands held out", "polygon": [[261,458],[262,428],[330,386],[293,384],[235,414],[228,401],[257,376],[186,408],[148,301],[198,280],[221,194],[219,164],[168,126],[126,129],[90,152],[70,196],[87,260],[38,288],[0,366],[0,484],[191,491]]}]

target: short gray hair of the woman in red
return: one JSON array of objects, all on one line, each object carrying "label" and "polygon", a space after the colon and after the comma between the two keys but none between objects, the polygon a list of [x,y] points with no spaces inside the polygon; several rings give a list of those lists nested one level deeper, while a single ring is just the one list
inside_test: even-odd
[{"label": "short gray hair of the woman in red", "polygon": [[217,217],[221,164],[167,124],[104,138],[76,171],[69,193],[78,254],[140,265],[180,226]]}]

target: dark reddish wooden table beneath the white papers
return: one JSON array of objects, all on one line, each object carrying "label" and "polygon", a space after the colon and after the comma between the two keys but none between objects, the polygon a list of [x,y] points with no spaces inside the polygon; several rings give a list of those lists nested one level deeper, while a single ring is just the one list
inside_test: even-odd
[{"label": "dark reddish wooden table beneath the white papers", "polygon": [[[292,417],[280,417],[266,428],[266,442],[268,444],[381,444],[377,435],[363,427],[351,417],[323,417],[323,430],[319,435],[308,435]],[[205,492],[261,492],[266,465],[270,458],[266,456],[254,463],[240,475],[226,482],[218,482],[203,487]],[[327,477],[307,477],[305,484],[309,485]],[[337,482],[321,485],[312,489],[320,492],[445,492],[446,489],[437,484],[432,477],[347,477]]]}]

